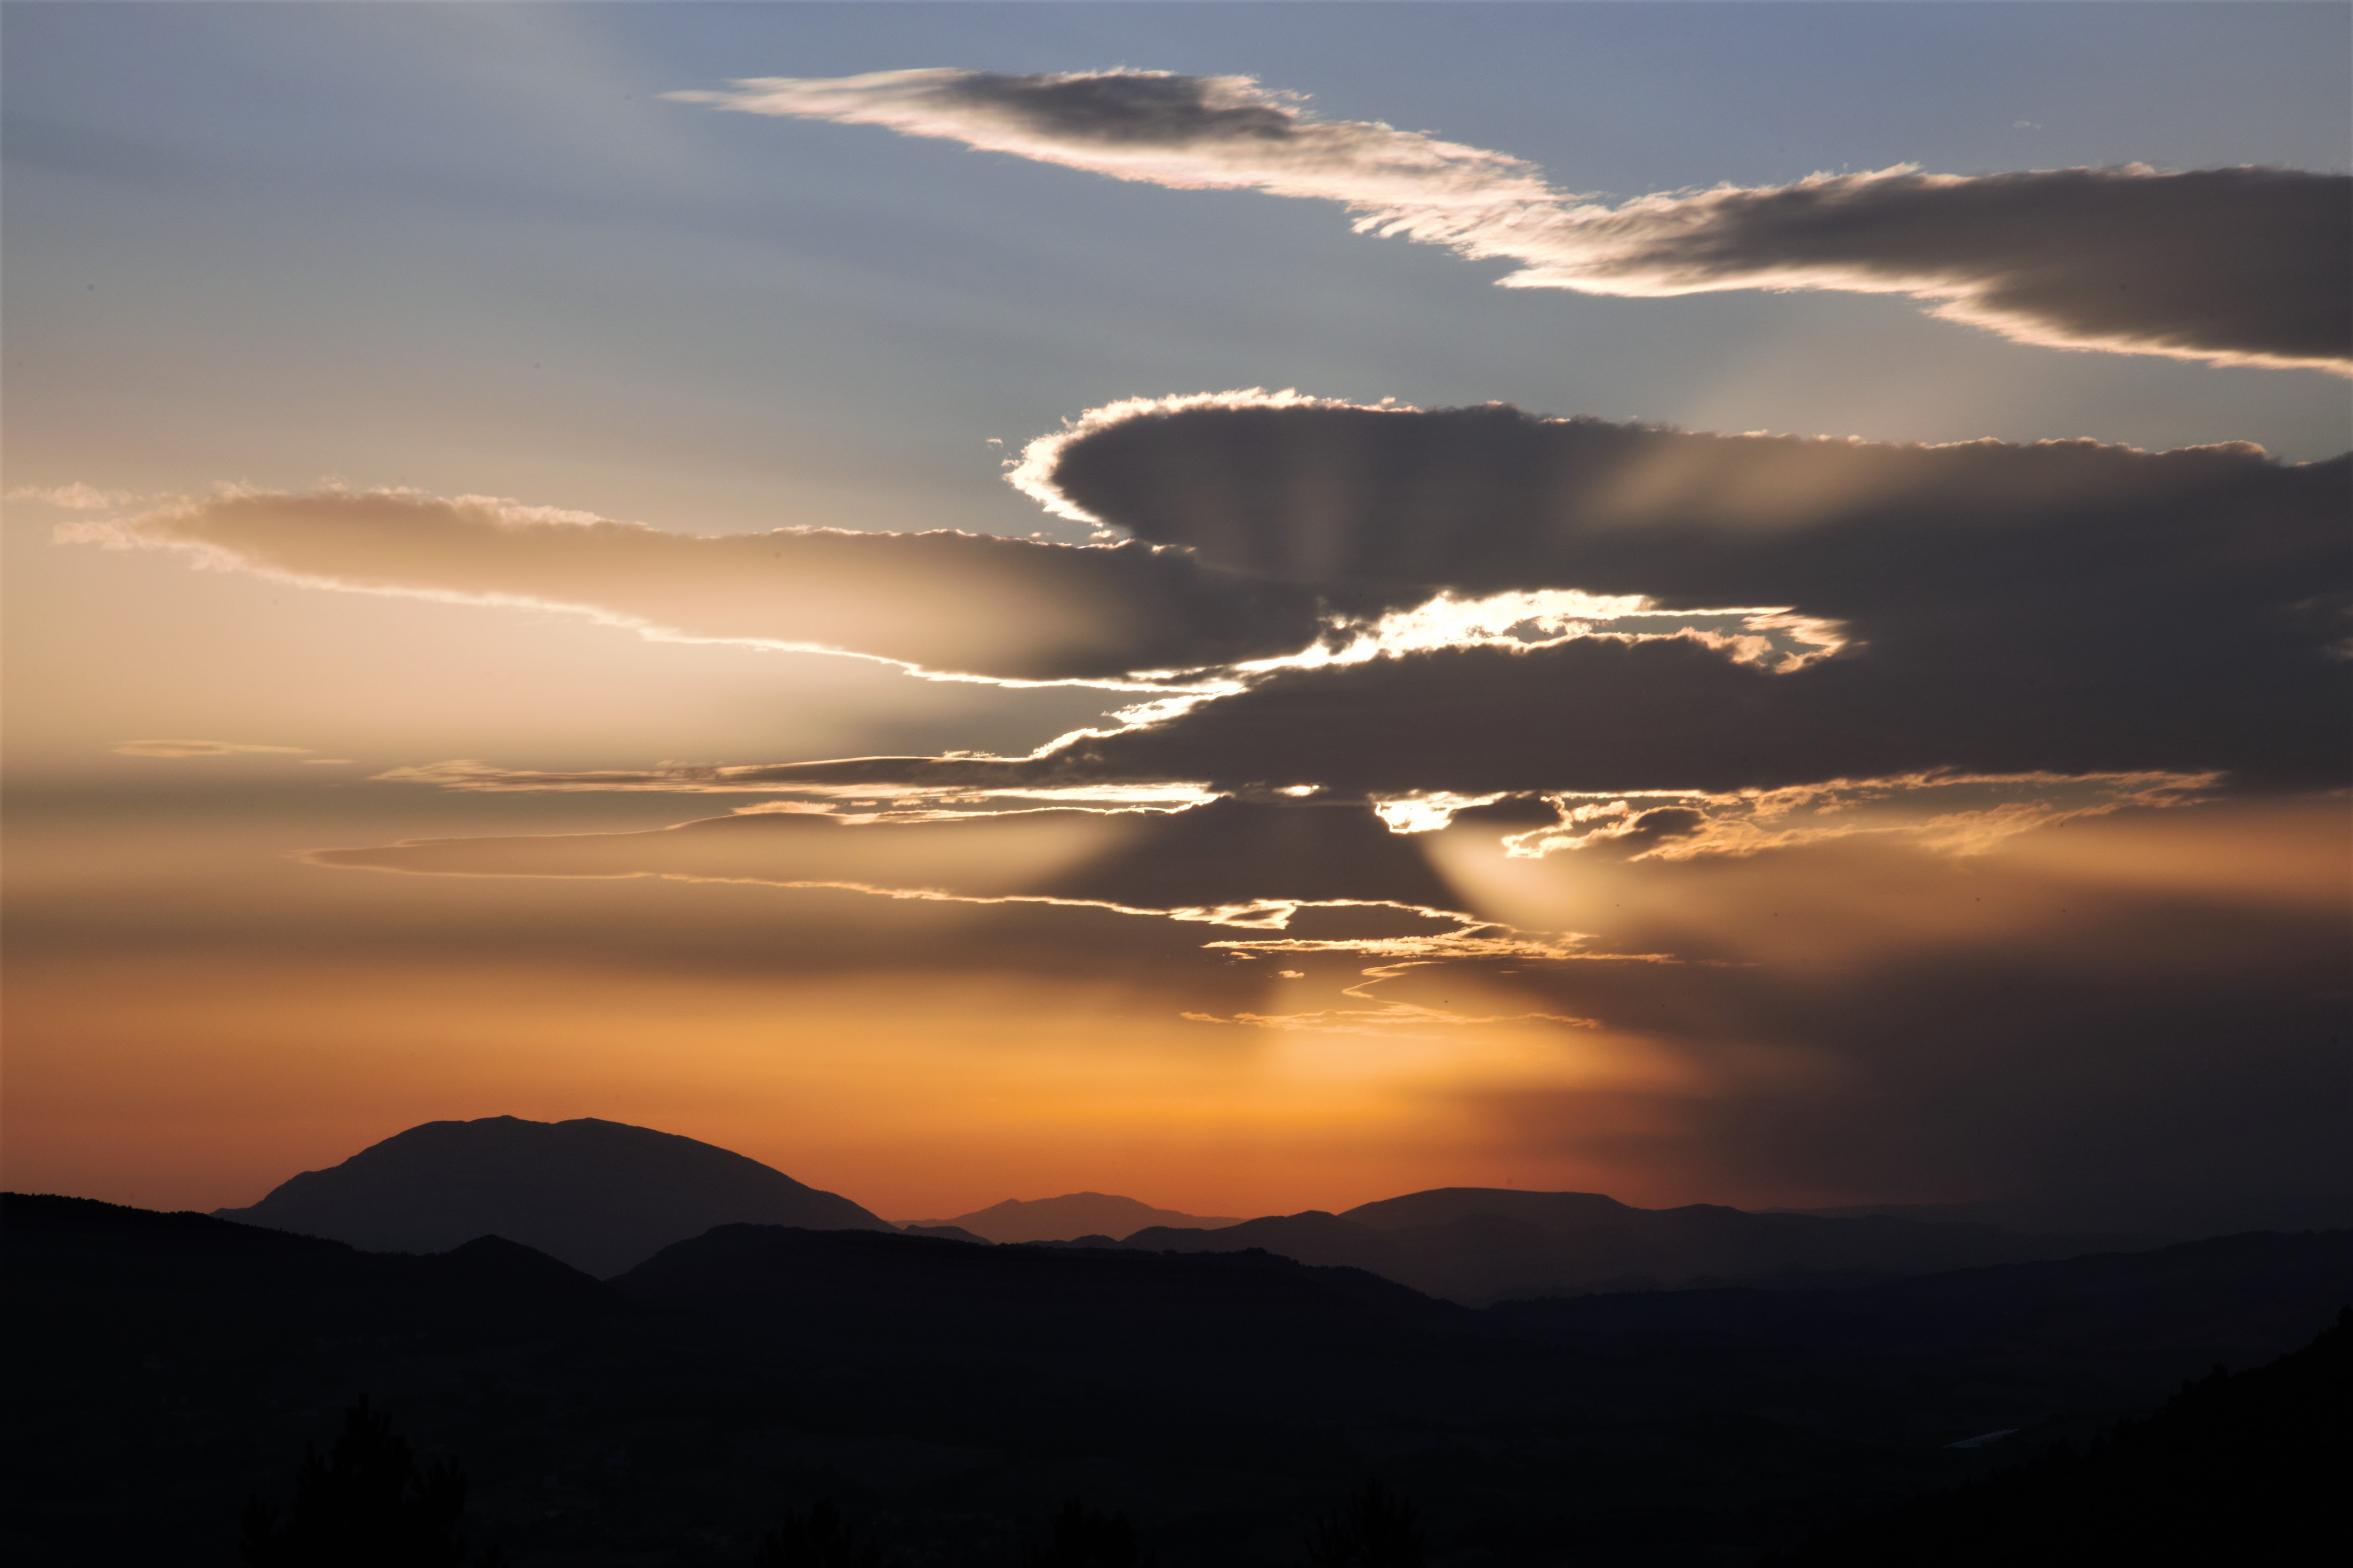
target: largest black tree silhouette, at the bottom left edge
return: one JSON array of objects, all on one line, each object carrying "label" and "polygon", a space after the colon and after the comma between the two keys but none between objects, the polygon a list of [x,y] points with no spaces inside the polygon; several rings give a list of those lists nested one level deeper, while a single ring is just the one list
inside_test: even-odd
[{"label": "largest black tree silhouette, at the bottom left edge", "polygon": [[[466,1547],[456,1523],[466,1512],[466,1476],[452,1460],[419,1469],[393,1418],[360,1403],[344,1410],[344,1432],[327,1458],[304,1446],[294,1507],[254,1497],[245,1505],[245,1561],[252,1568],[459,1568]],[[492,1552],[485,1563],[504,1563]]]}]

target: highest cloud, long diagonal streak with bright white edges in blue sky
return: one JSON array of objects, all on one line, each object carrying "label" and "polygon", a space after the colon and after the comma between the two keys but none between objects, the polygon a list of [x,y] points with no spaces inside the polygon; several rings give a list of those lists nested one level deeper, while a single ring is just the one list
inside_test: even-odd
[{"label": "highest cloud, long diagonal streak with bright white edges in blue sky", "polygon": [[1899,165],[1607,205],[1506,153],[1325,120],[1242,75],[932,68],[671,96],[1179,190],[1332,200],[1358,233],[1515,261],[1501,282],[1518,289],[1911,294],[2026,343],[2353,374],[2353,181],[2339,174]]}]

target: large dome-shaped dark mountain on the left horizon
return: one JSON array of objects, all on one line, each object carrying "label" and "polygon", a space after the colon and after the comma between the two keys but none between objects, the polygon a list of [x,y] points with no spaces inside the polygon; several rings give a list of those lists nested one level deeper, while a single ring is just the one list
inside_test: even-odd
[{"label": "large dome-shaped dark mountain on the left horizon", "polygon": [[494,1234],[609,1276],[713,1225],[892,1229],[758,1159],[621,1121],[426,1121],[214,1218],[440,1253]]}]

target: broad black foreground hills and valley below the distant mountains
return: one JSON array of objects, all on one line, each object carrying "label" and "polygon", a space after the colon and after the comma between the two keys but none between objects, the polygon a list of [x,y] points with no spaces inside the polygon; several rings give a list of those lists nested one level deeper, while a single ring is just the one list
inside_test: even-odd
[{"label": "broad black foreground hills and valley below the distant mountains", "polygon": [[1489,1309],[1268,1253],[769,1225],[598,1281],[56,1197],[5,1199],[0,1260],[0,1544],[188,1568],[238,1561],[245,1500],[360,1392],[518,1568],[751,1568],[819,1500],[908,1568],[1016,1568],[1068,1497],[1167,1568],[1299,1563],[1367,1479],[1442,1568],[1762,1563],[2353,1300],[2348,1232]]}]

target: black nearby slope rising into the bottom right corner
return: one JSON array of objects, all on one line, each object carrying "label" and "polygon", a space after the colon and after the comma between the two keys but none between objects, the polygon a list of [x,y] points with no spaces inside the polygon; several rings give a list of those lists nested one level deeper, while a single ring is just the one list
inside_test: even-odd
[{"label": "black nearby slope rising into the bottom right corner", "polygon": [[2344,1552],[2348,1410],[2353,1309],[2271,1366],[2214,1368],[2089,1453],[1920,1497],[1809,1542],[1788,1568],[2327,1561]]}]

